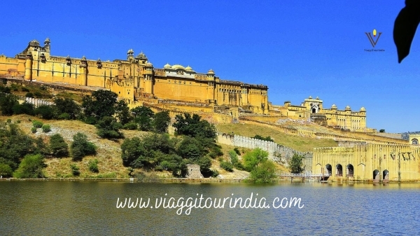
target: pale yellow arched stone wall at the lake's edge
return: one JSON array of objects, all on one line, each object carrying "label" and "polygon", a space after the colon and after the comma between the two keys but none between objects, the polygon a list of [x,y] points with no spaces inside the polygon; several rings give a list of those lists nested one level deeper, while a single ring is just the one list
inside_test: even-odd
[{"label": "pale yellow arched stone wall at the lake's edge", "polygon": [[312,172],[329,180],[419,181],[420,147],[407,144],[355,144],[314,148]]}]

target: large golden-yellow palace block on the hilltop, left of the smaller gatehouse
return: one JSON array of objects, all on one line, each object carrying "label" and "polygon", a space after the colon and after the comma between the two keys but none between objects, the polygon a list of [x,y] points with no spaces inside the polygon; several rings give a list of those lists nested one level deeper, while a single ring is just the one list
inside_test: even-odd
[{"label": "large golden-yellow palace block on the hilltop, left of the smaller gatehouse", "polygon": [[210,106],[240,106],[253,113],[268,113],[266,85],[221,80],[210,69],[198,73],[191,67],[166,64],[155,68],[144,53],[127,60],[87,60],[50,54],[50,39],[36,40],[14,58],[0,57],[0,74],[23,76],[28,81],[92,86],[116,92],[127,103],[142,98],[189,102]]}]

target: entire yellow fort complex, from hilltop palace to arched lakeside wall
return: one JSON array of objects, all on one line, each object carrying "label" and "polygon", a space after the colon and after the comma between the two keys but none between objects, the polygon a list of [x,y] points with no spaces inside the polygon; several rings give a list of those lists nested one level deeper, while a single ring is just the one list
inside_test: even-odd
[{"label": "entire yellow fort complex, from hilltop palace to arched lakeside wall", "polygon": [[[36,40],[30,41],[14,57],[0,55],[0,78],[18,83],[43,83],[82,94],[111,90],[130,107],[148,106],[153,111],[169,111],[172,117],[185,112],[200,113],[214,123],[309,122],[318,128],[274,126],[290,135],[335,139],[339,143],[331,148],[314,148],[307,170],[327,172],[333,180],[420,180],[419,134],[411,135],[408,141],[381,136],[367,127],[364,107],[352,110],[350,106],[344,109],[335,104],[324,106],[319,97],[308,96],[300,104],[290,101],[272,104],[267,85],[222,79],[211,65],[207,72],[181,64],[154,67],[144,53],[135,55],[132,49],[124,60],[112,62],[85,56],[56,56],[51,54],[50,39],[45,39],[43,46]],[[232,137],[232,141],[225,142],[235,143],[233,140]],[[247,139],[235,140],[250,145]]]}]

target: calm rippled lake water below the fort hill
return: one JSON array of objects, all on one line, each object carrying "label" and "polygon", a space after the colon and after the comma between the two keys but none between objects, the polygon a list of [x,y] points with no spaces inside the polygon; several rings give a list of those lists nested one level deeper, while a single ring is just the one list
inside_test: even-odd
[{"label": "calm rippled lake water below the fort hill", "polygon": [[[245,203],[251,193],[256,207],[265,197],[269,208],[246,209],[239,203],[233,208],[235,198]],[[193,197],[193,206],[197,199],[200,207],[201,195],[201,207],[207,197],[221,204],[231,197],[232,208],[228,198],[223,209],[192,208],[189,215],[188,207],[179,215],[180,207],[167,205],[170,197],[175,206],[180,197],[185,204]],[[150,202],[146,209],[117,208],[118,197]],[[161,197],[166,203],[156,208]],[[283,207],[289,202],[284,209],[283,197]],[[290,207],[290,197],[300,198],[303,207]],[[0,235],[419,235],[419,212],[418,183],[0,181]]]}]

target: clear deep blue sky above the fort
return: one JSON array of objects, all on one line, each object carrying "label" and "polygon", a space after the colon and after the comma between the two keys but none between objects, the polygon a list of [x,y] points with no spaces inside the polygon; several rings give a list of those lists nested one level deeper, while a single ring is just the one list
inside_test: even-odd
[{"label": "clear deep blue sky above the fort", "polygon": [[[420,41],[398,64],[393,23],[403,0],[1,1],[0,54],[51,40],[51,54],[97,60],[143,51],[154,67],[214,69],[221,79],[268,85],[269,102],[309,95],[367,110],[367,126],[420,130]],[[372,49],[365,32],[381,36]]]}]

